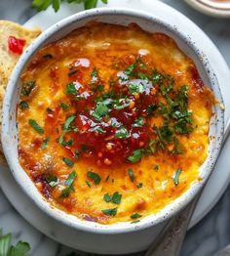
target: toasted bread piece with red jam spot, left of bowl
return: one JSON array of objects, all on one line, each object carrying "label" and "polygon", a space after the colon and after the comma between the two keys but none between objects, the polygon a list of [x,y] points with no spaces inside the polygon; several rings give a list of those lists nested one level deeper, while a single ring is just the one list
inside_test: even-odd
[{"label": "toasted bread piece with red jam spot, left of bowl", "polygon": [[[0,132],[2,124],[2,104],[9,77],[19,61],[19,55],[12,53],[8,48],[9,36],[25,40],[26,47],[41,33],[40,29],[27,29],[13,21],[0,21]],[[0,143],[0,163],[5,163]]]}]

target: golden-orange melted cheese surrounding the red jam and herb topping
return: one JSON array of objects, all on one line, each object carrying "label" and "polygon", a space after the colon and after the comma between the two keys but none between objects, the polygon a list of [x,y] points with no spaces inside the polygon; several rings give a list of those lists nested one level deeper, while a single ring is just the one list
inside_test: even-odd
[{"label": "golden-orange melted cheese surrounding the red jam and herb topping", "polygon": [[[124,162],[119,166],[97,165],[90,156],[87,160],[87,155],[82,158],[80,154],[73,166],[66,165],[62,158],[70,157],[69,153],[57,141],[60,124],[72,113],[72,109],[59,107],[60,103],[71,105],[65,93],[65,86],[71,78],[68,76],[71,65],[80,70],[79,77],[74,79],[81,85],[89,84],[96,66],[106,91],[111,86],[111,77],[118,73],[113,64],[124,56],[133,55],[150,60],[152,66],[172,75],[175,87],[188,85],[188,108],[193,113],[195,130],[189,135],[178,136],[184,147],[183,153],[172,155],[168,151],[159,151],[142,157],[137,163]],[[208,155],[212,95],[203,85],[192,60],[167,35],[147,33],[134,24],[129,27],[103,23],[86,25],[40,50],[21,79],[24,82],[35,80],[36,87],[29,97],[21,96],[29,108],[18,110],[19,161],[38,190],[56,207],[102,224],[133,221],[131,215],[134,213],[142,217],[156,213],[186,192],[191,184],[199,182],[199,167]],[[46,123],[47,107],[58,109],[54,122]],[[44,128],[44,134],[37,133],[28,124],[28,119],[36,120]],[[162,122],[162,117],[151,119],[152,125]],[[41,145],[48,137],[51,140],[47,148],[42,149]],[[129,176],[130,168],[134,170],[134,181]],[[175,186],[173,177],[179,168],[182,172],[179,184]],[[60,197],[72,170],[77,173],[73,190],[68,196]],[[101,177],[99,184],[88,177],[89,171]],[[50,188],[41,178],[44,174],[57,177],[58,185]],[[112,195],[114,192],[122,194],[120,204],[103,199],[105,193]],[[117,210],[115,216],[102,212],[114,208]]]}]

